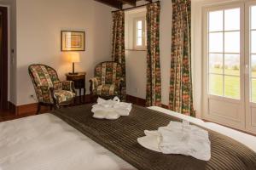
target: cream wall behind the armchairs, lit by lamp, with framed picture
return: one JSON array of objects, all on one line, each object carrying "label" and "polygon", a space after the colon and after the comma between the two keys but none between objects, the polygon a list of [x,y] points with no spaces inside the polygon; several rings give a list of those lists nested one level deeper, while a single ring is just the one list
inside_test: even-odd
[{"label": "cream wall behind the armchairs, lit by lamp, with framed picture", "polygon": [[28,65],[42,63],[58,72],[61,80],[72,70],[61,53],[61,30],[85,31],[85,52],[76,71],[87,72],[93,77],[97,63],[111,59],[110,7],[93,0],[17,0],[17,95],[16,105],[35,103],[35,95],[27,72]]}]

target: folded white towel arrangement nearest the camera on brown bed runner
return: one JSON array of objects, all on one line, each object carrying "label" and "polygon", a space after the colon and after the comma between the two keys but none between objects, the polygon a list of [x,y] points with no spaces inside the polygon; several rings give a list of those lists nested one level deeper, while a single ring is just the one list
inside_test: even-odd
[{"label": "folded white towel arrangement nearest the camera on brown bed runner", "polygon": [[[158,131],[145,131],[146,137],[137,139],[139,144],[164,154],[182,154],[196,159],[209,161],[211,158],[211,142],[208,132],[200,127],[189,125],[189,122],[170,122],[167,127],[160,127]],[[154,142],[149,142],[154,139]]]}]

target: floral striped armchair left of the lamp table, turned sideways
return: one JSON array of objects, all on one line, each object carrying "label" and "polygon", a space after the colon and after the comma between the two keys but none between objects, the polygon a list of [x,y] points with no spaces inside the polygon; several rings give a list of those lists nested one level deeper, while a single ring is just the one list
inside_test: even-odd
[{"label": "floral striped armchair left of the lamp table, turned sideways", "polygon": [[69,105],[73,102],[76,96],[73,82],[61,82],[53,68],[33,64],[28,67],[28,72],[38,97],[38,112],[41,105],[59,108],[61,105]]}]

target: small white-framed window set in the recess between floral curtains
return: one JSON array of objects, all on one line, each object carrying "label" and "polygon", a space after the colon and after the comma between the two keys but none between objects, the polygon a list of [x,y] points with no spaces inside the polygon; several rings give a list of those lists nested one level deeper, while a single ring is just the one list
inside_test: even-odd
[{"label": "small white-framed window set in the recess between floral curtains", "polygon": [[135,18],[134,19],[134,49],[146,49],[147,38],[146,38],[146,19]]}]

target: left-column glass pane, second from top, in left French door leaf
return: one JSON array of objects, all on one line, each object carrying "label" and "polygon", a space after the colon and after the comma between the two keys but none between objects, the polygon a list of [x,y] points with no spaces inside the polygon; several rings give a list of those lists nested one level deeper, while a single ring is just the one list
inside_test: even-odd
[{"label": "left-column glass pane, second from top, in left French door leaf", "polygon": [[223,53],[223,33],[209,34],[209,52]]}]

